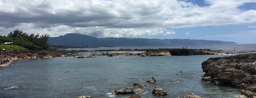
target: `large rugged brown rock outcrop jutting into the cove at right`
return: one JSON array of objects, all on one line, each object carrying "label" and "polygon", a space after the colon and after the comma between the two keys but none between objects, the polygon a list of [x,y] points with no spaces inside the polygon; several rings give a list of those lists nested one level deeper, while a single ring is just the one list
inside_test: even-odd
[{"label": "large rugged brown rock outcrop jutting into the cove at right", "polygon": [[[210,58],[202,63],[203,80],[217,85],[240,87],[242,94],[256,97],[256,54],[240,54],[229,57]],[[250,93],[250,94],[249,94]]]}]

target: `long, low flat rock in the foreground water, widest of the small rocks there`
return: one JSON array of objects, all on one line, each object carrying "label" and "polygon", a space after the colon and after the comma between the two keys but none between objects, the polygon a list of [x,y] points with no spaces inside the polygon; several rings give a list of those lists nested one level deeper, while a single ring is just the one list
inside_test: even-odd
[{"label": "long, low flat rock in the foreground water, widest of the small rocks there", "polygon": [[119,90],[115,90],[115,95],[119,95],[119,94],[134,94],[134,93],[142,93],[144,92],[144,89],[141,88],[131,88],[131,87],[127,87],[127,88],[120,88]]}]

